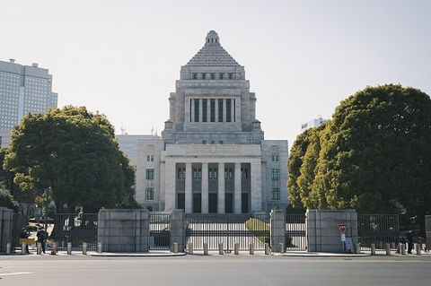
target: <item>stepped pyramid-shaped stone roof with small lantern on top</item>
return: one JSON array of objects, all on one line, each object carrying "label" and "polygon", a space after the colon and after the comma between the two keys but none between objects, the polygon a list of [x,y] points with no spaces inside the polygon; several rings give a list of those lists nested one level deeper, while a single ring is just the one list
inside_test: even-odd
[{"label": "stepped pyramid-shaped stone roof with small lantern on top", "polygon": [[231,55],[220,45],[215,30],[210,30],[205,40],[205,46],[193,56],[186,66],[237,66]]}]

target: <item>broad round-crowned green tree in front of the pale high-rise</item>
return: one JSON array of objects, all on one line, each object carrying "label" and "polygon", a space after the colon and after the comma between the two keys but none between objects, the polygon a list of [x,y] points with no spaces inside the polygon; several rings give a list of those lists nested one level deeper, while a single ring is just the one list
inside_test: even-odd
[{"label": "broad round-crowned green tree in front of the pale high-rise", "polygon": [[24,189],[49,191],[57,212],[97,212],[134,204],[135,171],[119,151],[106,117],[86,108],[30,114],[13,129],[4,160]]}]

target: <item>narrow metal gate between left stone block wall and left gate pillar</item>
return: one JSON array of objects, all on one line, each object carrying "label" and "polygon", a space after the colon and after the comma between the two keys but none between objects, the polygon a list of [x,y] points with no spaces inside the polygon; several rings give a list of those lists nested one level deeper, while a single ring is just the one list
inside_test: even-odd
[{"label": "narrow metal gate between left stone block wall and left gate pillar", "polygon": [[148,247],[150,250],[168,250],[171,245],[171,212],[149,212]]}]

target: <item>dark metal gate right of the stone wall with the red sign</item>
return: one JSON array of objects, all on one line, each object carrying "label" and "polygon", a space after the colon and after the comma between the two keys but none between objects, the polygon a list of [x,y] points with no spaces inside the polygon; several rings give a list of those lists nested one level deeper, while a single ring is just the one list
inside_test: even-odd
[{"label": "dark metal gate right of the stone wall with the red sign", "polygon": [[372,243],[377,249],[384,249],[387,243],[396,248],[400,243],[398,214],[358,214],[357,236],[362,250],[369,250]]}]

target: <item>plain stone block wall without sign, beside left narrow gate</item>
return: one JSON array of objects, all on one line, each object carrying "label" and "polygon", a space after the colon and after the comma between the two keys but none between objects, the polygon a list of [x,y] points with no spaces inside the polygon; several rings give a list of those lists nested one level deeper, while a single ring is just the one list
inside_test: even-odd
[{"label": "plain stone block wall without sign, beside left narrow gate", "polygon": [[147,210],[101,210],[97,235],[105,252],[147,252]]}]

